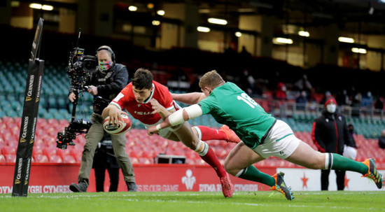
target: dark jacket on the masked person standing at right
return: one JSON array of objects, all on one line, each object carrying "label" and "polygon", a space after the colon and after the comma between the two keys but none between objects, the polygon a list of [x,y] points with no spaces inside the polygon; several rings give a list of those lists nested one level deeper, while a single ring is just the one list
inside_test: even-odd
[{"label": "dark jacket on the masked person standing at right", "polygon": [[338,113],[323,111],[311,129],[311,139],[321,153],[344,153],[344,144],[353,146],[346,119]]}]

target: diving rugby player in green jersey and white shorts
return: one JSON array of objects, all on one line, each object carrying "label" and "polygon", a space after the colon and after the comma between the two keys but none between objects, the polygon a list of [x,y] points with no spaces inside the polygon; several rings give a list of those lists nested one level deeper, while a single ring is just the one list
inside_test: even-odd
[{"label": "diving rugby player in green jersey and white shorts", "polygon": [[297,139],[293,130],[281,120],[276,120],[234,83],[225,83],[216,71],[205,73],[200,79],[202,93],[174,94],[176,101],[193,104],[169,115],[163,122],[148,128],[148,134],[211,114],[214,119],[228,125],[242,140],[225,160],[229,174],[249,181],[264,183],[277,190],[286,199],[293,199],[290,188],[283,181],[283,174],[269,176],[253,164],[269,156],[279,157],[309,169],[337,169],[356,171],[382,188],[382,175],[374,160],[356,162],[335,153],[320,153],[307,143]]}]

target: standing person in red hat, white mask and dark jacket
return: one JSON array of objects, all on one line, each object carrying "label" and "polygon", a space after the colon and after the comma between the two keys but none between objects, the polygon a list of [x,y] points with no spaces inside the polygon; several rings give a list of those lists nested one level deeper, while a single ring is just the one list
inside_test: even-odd
[{"label": "standing person in red hat, white mask and dark jacket", "polygon": [[[337,153],[343,155],[344,144],[355,146],[346,118],[337,113],[337,101],[328,97],[321,116],[316,118],[311,129],[311,139],[321,153]],[[328,190],[330,169],[321,170],[321,190]],[[344,190],[345,170],[335,170],[337,175],[337,190]]]}]

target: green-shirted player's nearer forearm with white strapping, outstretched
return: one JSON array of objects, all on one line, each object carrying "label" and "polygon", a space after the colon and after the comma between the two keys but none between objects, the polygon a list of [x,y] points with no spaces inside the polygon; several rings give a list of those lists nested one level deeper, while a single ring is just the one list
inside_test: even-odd
[{"label": "green-shirted player's nearer forearm with white strapping, outstretched", "polygon": [[161,129],[179,125],[187,120],[200,117],[201,115],[202,108],[200,108],[198,104],[193,104],[192,106],[182,108],[181,110],[172,113],[165,120],[160,122],[159,125],[148,127],[148,134],[152,135],[159,132]]}]

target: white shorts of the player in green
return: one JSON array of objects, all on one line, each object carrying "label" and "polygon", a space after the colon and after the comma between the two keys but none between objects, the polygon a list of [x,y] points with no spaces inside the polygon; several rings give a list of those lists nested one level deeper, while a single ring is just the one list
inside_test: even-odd
[{"label": "white shorts of the player in green", "polygon": [[276,120],[265,141],[253,150],[265,158],[275,156],[285,159],[294,153],[300,142],[301,140],[295,137],[293,130],[288,124],[281,120]]}]

